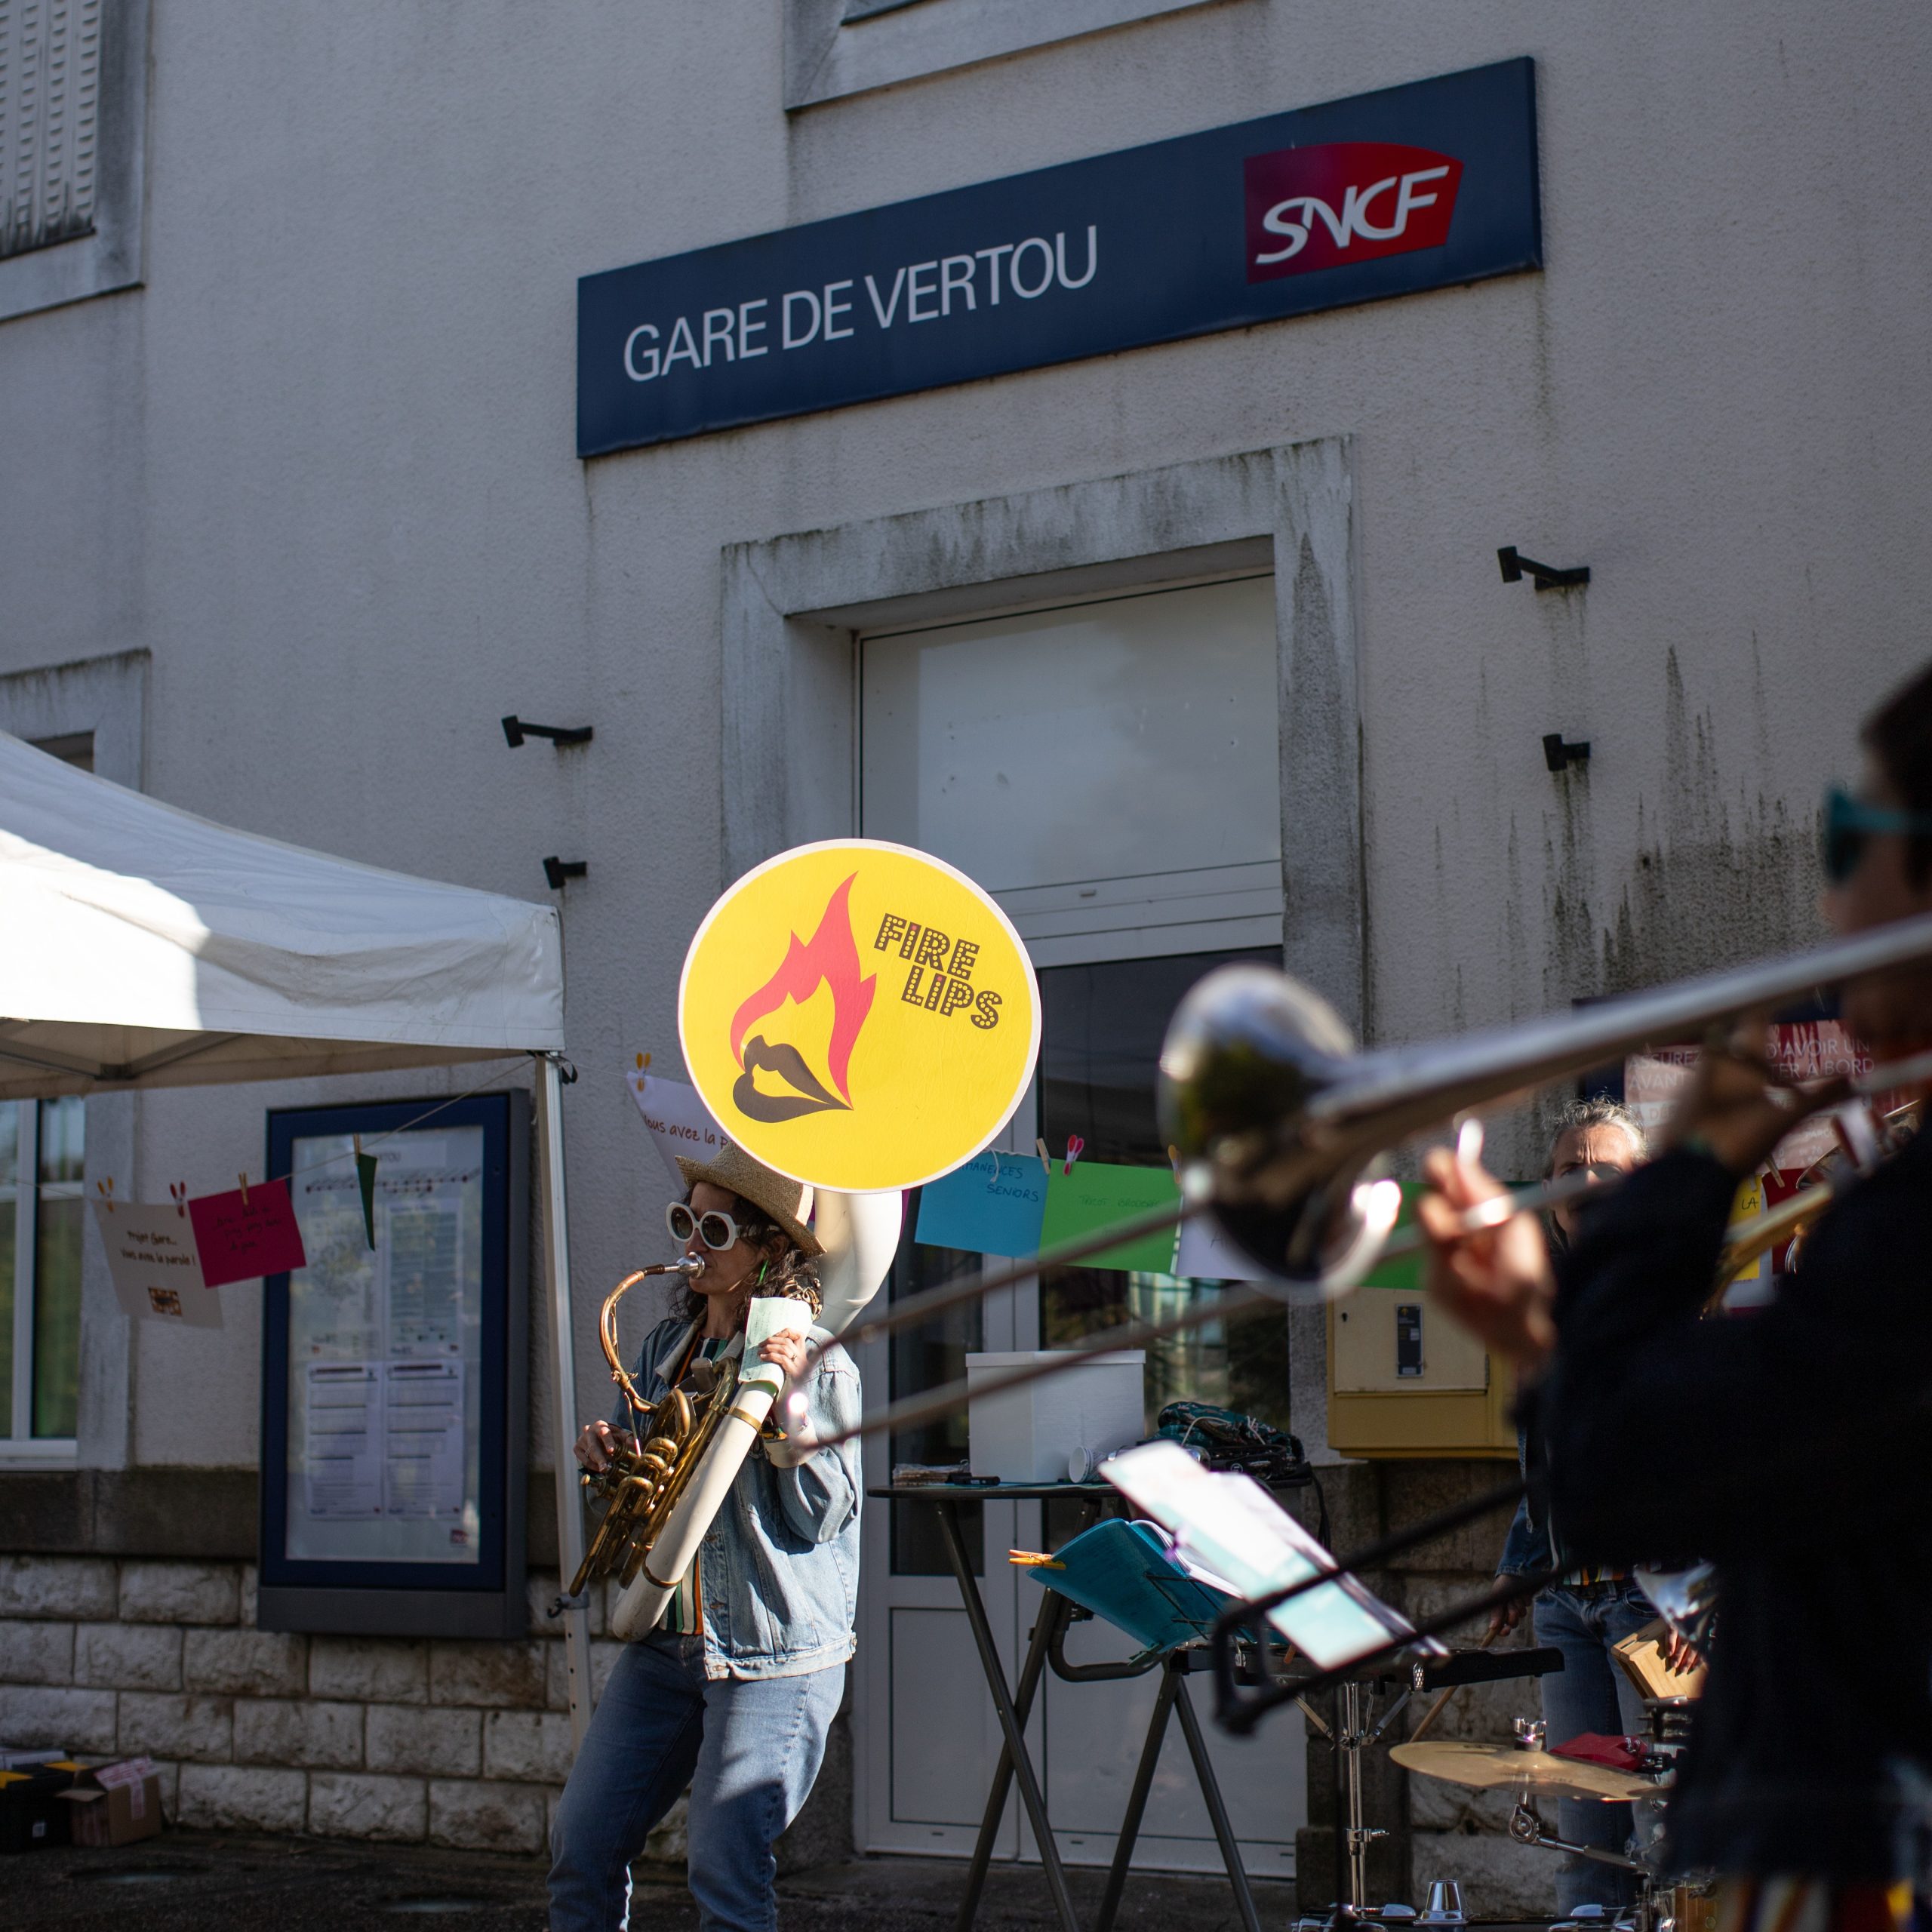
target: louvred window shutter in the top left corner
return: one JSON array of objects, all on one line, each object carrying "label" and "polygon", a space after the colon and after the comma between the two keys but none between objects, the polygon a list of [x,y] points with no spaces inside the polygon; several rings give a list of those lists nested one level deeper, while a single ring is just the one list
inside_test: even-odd
[{"label": "louvred window shutter in the top left corner", "polygon": [[102,0],[0,0],[0,257],[95,228]]}]

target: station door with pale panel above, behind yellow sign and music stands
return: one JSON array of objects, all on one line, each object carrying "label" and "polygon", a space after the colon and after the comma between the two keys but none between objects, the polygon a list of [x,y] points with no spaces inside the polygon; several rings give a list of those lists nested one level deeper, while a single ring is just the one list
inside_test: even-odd
[{"label": "station door with pale panel above, behind yellow sign and music stands", "polygon": [[[1003,618],[867,636],[860,667],[860,827],[949,860],[1007,908],[1045,1001],[1039,1080],[1003,1146],[1036,1136],[1082,1159],[1167,1165],[1153,1119],[1161,1034],[1188,985],[1225,956],[1279,962],[1279,676],[1275,591],[1246,576]],[[916,1213],[916,1198],[908,1202]],[[906,1242],[895,1294],[981,1265]],[[1202,1283],[1057,1269],[976,1318],[900,1337],[862,1360],[871,1399],[956,1379],[970,1349],[1053,1349],[1126,1314],[1157,1314]],[[1146,1422],[1177,1399],[1285,1420],[1287,1323],[1198,1331],[1148,1362]],[[964,1455],[964,1418],[893,1443],[895,1463]],[[869,1480],[885,1470],[875,1455]],[[968,1511],[972,1515],[972,1511]],[[1051,1548],[1072,1524],[1039,1503],[989,1503],[968,1530],[1009,1681],[1039,1604],[1007,1549]],[[896,1517],[896,1520],[893,1520]],[[1068,1654],[1128,1640],[1080,1625]],[[1049,1679],[1030,1727],[1061,1853],[1105,1864],[1153,1681]],[[867,1505],[860,1592],[858,1824],[864,1849],[972,1849],[999,1729],[958,1590],[918,1505]],[[1281,1719],[1209,1748],[1250,1870],[1294,1868],[1306,1818],[1302,1727]],[[1037,1857],[1009,1804],[1001,1857]],[[1213,1870],[1217,1851],[1171,1729],[1136,1862]]]}]

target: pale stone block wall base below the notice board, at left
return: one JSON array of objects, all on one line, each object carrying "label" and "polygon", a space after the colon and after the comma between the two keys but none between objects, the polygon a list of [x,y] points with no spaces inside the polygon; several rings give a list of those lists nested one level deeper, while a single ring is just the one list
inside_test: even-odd
[{"label": "pale stone block wall base below the notice board, at left", "polygon": [[0,1557],[0,1743],[145,1752],[185,1826],[535,1853],[570,1768],[554,1596],[531,1577],[520,1642],[284,1636],[251,1565]]}]

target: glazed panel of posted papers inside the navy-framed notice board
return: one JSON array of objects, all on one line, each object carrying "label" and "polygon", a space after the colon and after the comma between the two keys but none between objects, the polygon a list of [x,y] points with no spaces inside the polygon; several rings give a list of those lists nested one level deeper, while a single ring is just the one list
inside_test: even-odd
[{"label": "glazed panel of posted papers inside the navy-framed notice board", "polygon": [[288,1277],[286,1555],[475,1563],[483,1128],[413,1128],[367,1151],[375,1248],[350,1136],[294,1144],[309,1260]]}]

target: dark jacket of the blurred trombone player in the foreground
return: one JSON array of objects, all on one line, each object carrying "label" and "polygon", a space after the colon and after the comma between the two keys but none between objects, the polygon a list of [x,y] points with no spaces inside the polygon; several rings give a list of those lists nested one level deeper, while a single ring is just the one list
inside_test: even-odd
[{"label": "dark jacket of the blurred trombone player in the foreground", "polygon": [[1700,1321],[1733,1194],[1667,1153],[1559,1264],[1551,1509],[1598,1561],[1718,1565],[1679,1868],[1888,1880],[1932,1770],[1932,1134],[1766,1308]]}]

